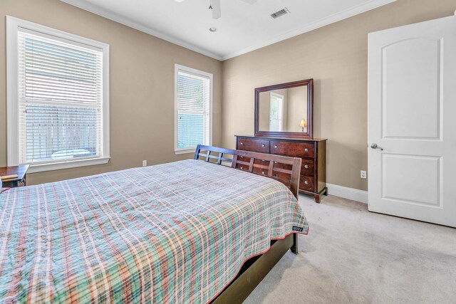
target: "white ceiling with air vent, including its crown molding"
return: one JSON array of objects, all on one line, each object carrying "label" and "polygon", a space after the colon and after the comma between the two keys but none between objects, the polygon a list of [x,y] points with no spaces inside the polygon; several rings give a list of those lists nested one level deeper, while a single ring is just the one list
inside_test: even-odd
[{"label": "white ceiling with air vent, including its crown molding", "polygon": [[[61,0],[204,55],[225,60],[395,0]],[[288,9],[277,19],[271,14]],[[209,28],[217,28],[212,33]]]}]

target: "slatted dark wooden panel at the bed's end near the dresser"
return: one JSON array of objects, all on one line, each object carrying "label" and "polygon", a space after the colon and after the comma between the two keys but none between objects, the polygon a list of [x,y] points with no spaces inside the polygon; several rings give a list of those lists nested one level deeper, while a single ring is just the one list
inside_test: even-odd
[{"label": "slatted dark wooden panel at the bed's end near the dresser", "polygon": [[[214,155],[213,152],[218,154]],[[200,157],[203,157],[206,162],[276,179],[289,187],[291,193],[298,199],[302,161],[300,158],[198,145],[195,159]]]}]

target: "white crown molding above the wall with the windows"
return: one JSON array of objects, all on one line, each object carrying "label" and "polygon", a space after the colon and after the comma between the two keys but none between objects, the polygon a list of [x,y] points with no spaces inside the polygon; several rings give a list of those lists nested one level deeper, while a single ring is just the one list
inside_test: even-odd
[{"label": "white crown molding above the wall with the windows", "polygon": [[157,38],[160,38],[162,40],[168,41],[170,43],[176,44],[177,46],[182,46],[182,48],[187,48],[190,51],[195,51],[197,53],[200,53],[204,56],[208,56],[210,58],[217,59],[218,61],[222,61],[222,56],[219,56],[215,53],[212,53],[210,51],[205,50],[204,48],[199,48],[199,46],[195,46],[192,43],[187,43],[185,41],[182,41],[180,39],[177,39],[172,36],[167,36],[163,33],[160,33],[159,31],[156,31],[152,28],[149,28],[147,26],[144,26],[140,23],[137,23],[135,21],[132,21],[130,19],[124,18],[122,16],[119,16],[118,14],[114,14],[110,11],[106,11],[105,9],[101,9],[99,6],[95,6],[93,4],[90,4],[86,1],[81,1],[81,0],[60,0],[62,2],[65,2],[66,4],[70,4],[72,6],[76,6],[79,9],[83,9],[85,11],[90,11],[90,13],[93,13],[98,16],[102,16],[106,19],[110,19],[112,21],[115,21],[117,23],[123,24],[124,26],[128,26],[130,28],[135,28],[138,31],[142,31],[143,33],[148,33],[149,35],[155,36]]}]

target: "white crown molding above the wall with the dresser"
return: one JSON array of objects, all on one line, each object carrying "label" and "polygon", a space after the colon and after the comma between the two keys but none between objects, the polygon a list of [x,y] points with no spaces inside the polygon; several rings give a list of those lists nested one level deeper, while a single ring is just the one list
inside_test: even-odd
[{"label": "white crown molding above the wall with the dresser", "polygon": [[280,41],[284,41],[284,40],[292,38],[294,36],[299,36],[302,33],[314,31],[317,28],[322,28],[323,26],[328,26],[331,23],[336,23],[338,21],[342,21],[343,19],[348,19],[350,17],[356,16],[358,14],[363,14],[366,11],[371,11],[372,9],[376,9],[380,6],[384,6],[386,4],[390,4],[395,1],[396,0],[372,0],[365,4],[353,6],[351,9],[346,9],[345,11],[341,11],[337,14],[333,14],[331,16],[328,16],[326,18],[312,22],[310,24],[306,24],[306,26],[303,26],[301,28],[296,28],[293,31],[289,31],[287,33],[283,33],[281,35],[274,36],[273,38],[261,41],[259,43],[255,43],[254,45],[249,46],[248,48],[244,48],[241,51],[231,53],[227,56],[222,56],[222,61],[243,55],[245,53],[249,53],[249,52],[258,50],[259,48],[264,48],[265,46],[270,46],[271,44],[274,44],[274,43],[277,43]]}]

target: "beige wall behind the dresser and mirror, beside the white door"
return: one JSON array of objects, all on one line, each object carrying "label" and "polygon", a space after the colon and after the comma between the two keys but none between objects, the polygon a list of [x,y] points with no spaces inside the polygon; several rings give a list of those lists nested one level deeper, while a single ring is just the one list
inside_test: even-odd
[{"label": "beige wall behind the dresser and mirror, beside the white door", "polygon": [[222,144],[253,134],[254,88],[314,78],[314,137],[328,139],[327,181],[366,190],[367,34],[455,9],[455,0],[398,0],[224,61]]}]

